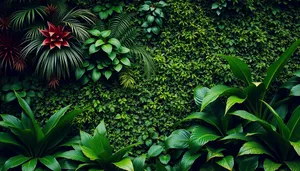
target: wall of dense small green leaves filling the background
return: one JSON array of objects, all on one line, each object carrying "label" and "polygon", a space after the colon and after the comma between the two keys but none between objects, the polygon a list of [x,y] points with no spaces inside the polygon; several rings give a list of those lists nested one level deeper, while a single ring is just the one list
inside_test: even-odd
[{"label": "wall of dense small green leaves filling the background", "polygon": [[[115,146],[139,140],[150,146],[173,131],[175,122],[198,111],[193,102],[193,88],[197,85],[236,84],[228,74],[229,66],[216,54],[241,56],[256,73],[253,80],[259,82],[267,66],[300,37],[297,8],[282,9],[274,15],[268,8],[257,7],[261,9],[252,14],[224,13],[217,17],[205,1],[167,3],[161,35],[144,39],[152,49],[156,75],[148,80],[135,78],[137,85],[132,90],[115,84],[90,83],[81,87],[74,82],[47,90],[43,99],[32,100],[32,108],[40,112],[39,119],[44,121],[53,110],[72,104],[86,108],[77,117],[74,131],[89,131],[104,119]],[[298,51],[278,81],[289,78],[299,68]],[[136,68],[134,72],[137,76],[143,71]],[[13,106],[2,105],[0,113],[8,108]]]}]

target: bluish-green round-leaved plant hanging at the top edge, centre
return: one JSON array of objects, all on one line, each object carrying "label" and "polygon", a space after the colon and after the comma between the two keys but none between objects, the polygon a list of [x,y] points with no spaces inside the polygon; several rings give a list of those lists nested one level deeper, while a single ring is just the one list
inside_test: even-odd
[{"label": "bluish-green round-leaved plant hanging at the top edge, centre", "polygon": [[145,21],[142,24],[144,33],[148,38],[151,38],[153,34],[158,35],[163,27],[163,18],[165,14],[163,8],[167,6],[164,1],[152,2],[145,1],[145,4],[139,8],[140,16],[145,16]]}]

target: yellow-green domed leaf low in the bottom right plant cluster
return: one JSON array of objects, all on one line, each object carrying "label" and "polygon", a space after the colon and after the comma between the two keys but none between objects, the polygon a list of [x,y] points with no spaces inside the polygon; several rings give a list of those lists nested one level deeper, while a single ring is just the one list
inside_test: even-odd
[{"label": "yellow-green domed leaf low in the bottom right plant cluster", "polygon": [[272,156],[272,154],[261,144],[257,142],[246,142],[239,151],[239,156],[248,154],[267,154]]}]

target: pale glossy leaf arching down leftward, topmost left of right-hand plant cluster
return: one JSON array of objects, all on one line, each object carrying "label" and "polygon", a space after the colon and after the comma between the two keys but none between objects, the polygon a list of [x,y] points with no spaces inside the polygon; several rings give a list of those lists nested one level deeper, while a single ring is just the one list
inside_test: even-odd
[{"label": "pale glossy leaf arching down leftward, topmost left of right-hand plant cluster", "polygon": [[219,96],[224,95],[224,94],[229,94],[229,95],[235,95],[237,92],[240,92],[241,90],[238,88],[231,88],[227,87],[225,85],[217,85],[211,88],[206,96],[203,98],[202,105],[201,105],[201,111],[215,101]]}]

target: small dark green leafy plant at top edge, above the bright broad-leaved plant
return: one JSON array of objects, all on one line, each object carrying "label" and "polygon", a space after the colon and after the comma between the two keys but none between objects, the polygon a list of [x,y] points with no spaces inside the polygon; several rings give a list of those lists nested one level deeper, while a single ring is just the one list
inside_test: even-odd
[{"label": "small dark green leafy plant at top edge, above the bright broad-leaved plant", "polygon": [[103,5],[96,5],[93,8],[93,12],[97,13],[100,19],[107,19],[113,15],[114,12],[121,13],[123,11],[124,2],[106,2]]}]

